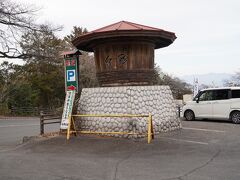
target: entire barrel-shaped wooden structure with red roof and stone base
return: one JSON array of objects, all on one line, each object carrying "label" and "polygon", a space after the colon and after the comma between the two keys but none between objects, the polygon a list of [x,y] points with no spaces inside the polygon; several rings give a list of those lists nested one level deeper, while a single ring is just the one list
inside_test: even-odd
[{"label": "entire barrel-shaped wooden structure with red roof and stone base", "polygon": [[[169,46],[175,39],[172,32],[127,21],[76,38],[73,44],[79,50],[94,52],[97,78],[101,86],[105,86],[83,88],[78,113],[152,114],[154,133],[179,129],[181,121],[170,88],[150,86],[154,75],[154,49]],[[148,132],[147,124],[146,119],[140,117],[81,117],[77,127],[83,131],[116,132],[114,136],[118,137],[131,137],[127,135],[131,132],[144,137]]]}]

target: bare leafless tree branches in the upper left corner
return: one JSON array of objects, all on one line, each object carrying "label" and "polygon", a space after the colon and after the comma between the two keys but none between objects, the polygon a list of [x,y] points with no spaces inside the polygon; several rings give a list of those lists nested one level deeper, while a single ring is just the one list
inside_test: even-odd
[{"label": "bare leafless tree branches in the upper left corner", "polygon": [[[38,11],[39,9],[33,6],[0,0],[0,58],[16,59],[33,56],[22,52],[20,41],[23,34],[44,30],[41,28],[42,25],[36,24],[34,20]],[[51,27],[50,30],[61,29],[62,27]]]}]

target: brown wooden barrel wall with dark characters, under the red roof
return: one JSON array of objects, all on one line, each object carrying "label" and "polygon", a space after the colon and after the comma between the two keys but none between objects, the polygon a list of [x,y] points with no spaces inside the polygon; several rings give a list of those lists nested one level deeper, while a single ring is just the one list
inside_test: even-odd
[{"label": "brown wooden barrel wall with dark characters, under the red roof", "polygon": [[97,77],[102,86],[151,84],[154,44],[117,42],[95,46]]}]

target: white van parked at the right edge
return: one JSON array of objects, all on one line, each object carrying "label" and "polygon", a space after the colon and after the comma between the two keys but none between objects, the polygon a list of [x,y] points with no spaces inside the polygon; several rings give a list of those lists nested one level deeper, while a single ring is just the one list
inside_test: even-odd
[{"label": "white van parked at the right edge", "polygon": [[240,123],[240,87],[201,90],[183,106],[186,120],[195,118],[231,120]]}]

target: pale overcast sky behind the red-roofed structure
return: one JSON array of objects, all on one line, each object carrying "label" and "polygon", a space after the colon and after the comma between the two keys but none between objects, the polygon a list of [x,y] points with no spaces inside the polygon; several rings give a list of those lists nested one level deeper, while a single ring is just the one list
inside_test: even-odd
[{"label": "pale overcast sky behind the red-roofed structure", "polygon": [[239,0],[16,0],[41,7],[39,22],[89,31],[121,21],[175,32],[169,47],[155,51],[164,72],[181,76],[240,71]]}]

